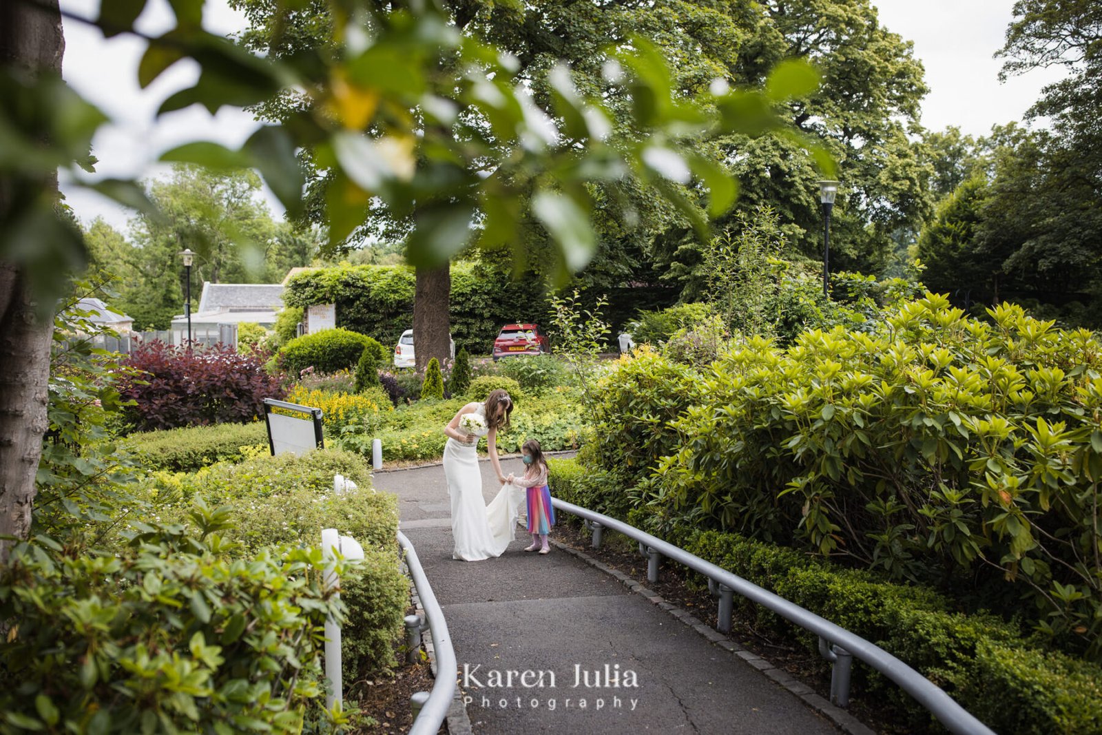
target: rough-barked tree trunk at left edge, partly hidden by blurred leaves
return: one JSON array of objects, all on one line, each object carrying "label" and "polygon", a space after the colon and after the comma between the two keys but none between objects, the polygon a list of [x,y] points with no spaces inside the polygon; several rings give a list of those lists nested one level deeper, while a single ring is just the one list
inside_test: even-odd
[{"label": "rough-barked tree trunk at left edge, partly hidden by blurred leaves", "polygon": [[[61,74],[65,39],[57,0],[0,2],[0,64]],[[42,182],[56,195],[57,176]],[[0,221],[14,182],[0,177]],[[0,534],[28,538],[34,474],[46,432],[53,305],[36,311],[26,274],[0,261]],[[11,542],[0,540],[0,564]]]}]

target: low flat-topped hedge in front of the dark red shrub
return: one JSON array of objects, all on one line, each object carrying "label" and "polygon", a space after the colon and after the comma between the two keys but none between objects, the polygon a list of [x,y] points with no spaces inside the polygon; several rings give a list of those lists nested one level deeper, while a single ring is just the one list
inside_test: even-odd
[{"label": "low flat-topped hedge in front of the dark red shrub", "polygon": [[195,472],[216,462],[239,462],[256,446],[268,446],[263,421],[191,426],[130,434],[123,442],[144,469]]}]

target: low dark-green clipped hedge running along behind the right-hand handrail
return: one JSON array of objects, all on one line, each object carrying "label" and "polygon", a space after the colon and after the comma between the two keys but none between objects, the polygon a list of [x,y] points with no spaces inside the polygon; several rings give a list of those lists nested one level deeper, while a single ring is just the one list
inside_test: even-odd
[{"label": "low dark-green clipped hedge running along behind the right-hand handrail", "polygon": [[[641,527],[628,493],[603,469],[551,460],[555,497]],[[645,529],[646,530],[646,529]],[[722,531],[679,526],[668,541],[873,641],[944,689],[995,732],[1102,733],[1102,667],[1029,645],[1022,629],[986,614],[954,612],[929,587],[886,582],[793,549]],[[695,576],[695,575],[694,575]],[[776,614],[735,597],[736,615],[758,630],[798,638],[818,656],[818,639]],[[877,702],[909,732],[939,731],[894,682],[854,667],[858,696]]]}]

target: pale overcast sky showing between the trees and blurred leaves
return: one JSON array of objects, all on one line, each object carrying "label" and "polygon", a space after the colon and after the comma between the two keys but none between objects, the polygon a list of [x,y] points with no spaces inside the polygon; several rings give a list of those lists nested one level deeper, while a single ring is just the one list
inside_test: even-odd
[{"label": "pale overcast sky showing between the trees and blurred leaves", "polygon": [[[1040,88],[1060,77],[1055,69],[1036,71],[998,83],[1002,62],[992,55],[1003,45],[1014,0],[874,0],[874,4],[884,25],[915,42],[915,55],[926,67],[930,94],[922,102],[922,123],[927,128],[955,125],[982,136],[995,123],[1020,120]],[[99,0],[62,0],[62,7],[93,18]],[[212,32],[228,34],[244,28],[245,21],[225,0],[207,0],[204,24]],[[170,28],[166,0],[150,0],[139,19],[139,30],[160,34]],[[210,116],[193,106],[154,120],[161,100],[194,83],[198,71],[194,64],[176,64],[141,90],[136,69],[142,51],[143,42],[137,39],[105,41],[97,30],[65,21],[65,78],[114,120],[94,141],[98,175],[160,175],[164,167],[154,162],[169,148],[202,139],[240,145],[256,128],[249,115],[227,108]],[[65,183],[62,188],[82,221],[102,216],[126,228],[130,215],[118,205]],[[274,205],[273,209],[278,210]]]}]

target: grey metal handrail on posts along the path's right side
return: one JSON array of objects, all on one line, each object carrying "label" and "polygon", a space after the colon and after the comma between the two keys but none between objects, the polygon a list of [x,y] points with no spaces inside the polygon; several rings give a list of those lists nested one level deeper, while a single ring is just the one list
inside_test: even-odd
[{"label": "grey metal handrail on posts along the path's right side", "polygon": [[[831,699],[835,704],[845,706],[849,701],[850,661],[851,656],[853,656],[896,682],[900,689],[914,696],[919,704],[936,716],[950,732],[958,733],[959,735],[995,735],[990,727],[976,720],[974,715],[953,701],[949,694],[929,679],[861,636],[852,634],[827,618],[803,609],[799,605],[768,590],[764,590],[753,582],[748,582],[737,574],[728,572],[722,566],[716,566],[700,556],[689,553],[684,549],[662,541],[646,531],[640,531],[624,521],[554,497],[551,498],[551,505],[559,510],[564,510],[588,521],[587,525],[593,530],[594,548],[601,545],[601,532],[606,528],[619,531],[639,541],[640,544],[646,547],[646,551],[650,556],[647,577],[651,582],[657,581],[658,559],[660,555],[672,559],[694,572],[703,574],[709,580],[716,582],[721,590],[721,628],[725,614],[730,620],[732,609],[730,595],[738,593],[743,597],[752,599],[789,621],[795,623],[804,630],[817,634],[819,636],[820,652],[827,660],[833,663],[834,674],[831,681]],[[724,607],[726,607],[726,610],[724,610]]]}]

